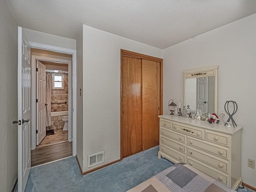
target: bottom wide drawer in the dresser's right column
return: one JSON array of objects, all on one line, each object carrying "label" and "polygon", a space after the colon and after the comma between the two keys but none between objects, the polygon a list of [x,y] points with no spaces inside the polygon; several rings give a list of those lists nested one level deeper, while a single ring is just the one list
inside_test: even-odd
[{"label": "bottom wide drawer in the dresser's right column", "polygon": [[221,174],[217,170],[215,171],[214,169],[208,168],[207,165],[201,164],[200,162],[196,162],[190,158],[188,158],[188,164],[197,170],[202,171],[203,173],[211,176],[212,178],[219,180],[220,182],[224,183],[225,185],[227,184],[227,177],[228,175]]}]

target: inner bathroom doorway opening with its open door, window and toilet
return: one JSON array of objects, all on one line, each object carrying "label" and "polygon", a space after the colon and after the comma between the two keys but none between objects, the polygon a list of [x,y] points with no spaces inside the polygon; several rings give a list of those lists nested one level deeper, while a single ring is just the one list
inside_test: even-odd
[{"label": "inner bathroom doorway opening with its open door, window and toilet", "polygon": [[36,147],[68,141],[68,64],[36,60]]}]

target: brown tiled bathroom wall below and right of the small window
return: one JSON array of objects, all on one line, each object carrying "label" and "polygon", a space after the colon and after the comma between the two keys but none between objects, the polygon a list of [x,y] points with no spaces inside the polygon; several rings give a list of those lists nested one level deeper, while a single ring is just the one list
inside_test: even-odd
[{"label": "brown tiled bathroom wall below and right of the small window", "polygon": [[[64,104],[63,102],[67,103]],[[52,89],[51,103],[52,112],[68,111],[68,74],[64,75],[64,89]]]}]

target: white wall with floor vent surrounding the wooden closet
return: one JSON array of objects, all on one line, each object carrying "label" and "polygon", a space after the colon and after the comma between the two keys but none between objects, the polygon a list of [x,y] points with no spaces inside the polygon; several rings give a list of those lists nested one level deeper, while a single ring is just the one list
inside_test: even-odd
[{"label": "white wall with floor vent surrounding the wooden closet", "polygon": [[120,159],[120,49],[158,58],[162,58],[162,50],[88,26],[83,26],[83,38],[86,171],[89,154],[104,150],[104,164]]}]

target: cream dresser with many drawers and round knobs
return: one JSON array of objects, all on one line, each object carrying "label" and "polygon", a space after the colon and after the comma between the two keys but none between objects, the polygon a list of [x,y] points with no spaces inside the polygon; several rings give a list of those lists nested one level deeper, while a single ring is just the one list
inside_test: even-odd
[{"label": "cream dresser with many drawers and round knobs", "polygon": [[160,115],[158,158],[184,162],[236,190],[242,182],[242,126],[226,128],[173,115]]}]

